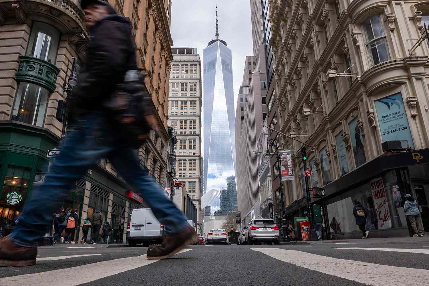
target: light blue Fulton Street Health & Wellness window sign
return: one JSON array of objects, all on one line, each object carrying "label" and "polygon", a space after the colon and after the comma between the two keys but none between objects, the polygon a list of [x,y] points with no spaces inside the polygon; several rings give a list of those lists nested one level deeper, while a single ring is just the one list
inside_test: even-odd
[{"label": "light blue Fulton Street Health & Wellness window sign", "polygon": [[377,111],[382,141],[407,140],[411,149],[414,149],[402,93],[399,92],[375,100],[374,104]]}]

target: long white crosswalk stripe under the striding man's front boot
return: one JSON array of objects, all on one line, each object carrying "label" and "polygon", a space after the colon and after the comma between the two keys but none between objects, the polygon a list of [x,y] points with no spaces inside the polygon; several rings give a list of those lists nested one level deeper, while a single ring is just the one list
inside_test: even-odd
[{"label": "long white crosswalk stripe under the striding man's front boot", "polygon": [[[189,250],[192,249],[181,250],[175,255]],[[124,271],[133,270],[157,261],[159,260],[146,259],[146,254],[144,254],[58,270],[5,277],[1,278],[0,281],[2,286],[46,286],[57,285],[58,277],[60,277],[61,281],[67,281],[67,285],[79,285],[119,274]],[[112,265],[115,265],[115,267],[112,267]]]}]

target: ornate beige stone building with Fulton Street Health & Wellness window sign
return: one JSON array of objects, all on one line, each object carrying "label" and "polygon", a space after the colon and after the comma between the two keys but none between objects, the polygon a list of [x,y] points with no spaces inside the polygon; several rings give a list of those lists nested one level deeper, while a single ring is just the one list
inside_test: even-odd
[{"label": "ornate beige stone building with Fulton Street Health & Wellness window sign", "polygon": [[[428,23],[429,2],[268,2],[279,124],[275,129],[309,145],[309,187],[326,190],[326,197],[312,198],[322,206],[325,238],[334,235],[329,227],[334,218],[342,229],[337,238],[359,236],[351,214],[356,202],[369,210],[367,229],[374,236],[408,235],[405,193],[418,198],[428,229],[428,166],[423,158],[415,158],[424,157],[429,147],[429,48],[426,41],[411,48]],[[350,74],[329,80],[328,71]],[[293,221],[307,215],[302,144],[278,136],[281,147],[296,156],[295,179],[284,184],[284,212]],[[390,140],[407,140],[405,147],[411,151],[387,155],[382,143]]]}]

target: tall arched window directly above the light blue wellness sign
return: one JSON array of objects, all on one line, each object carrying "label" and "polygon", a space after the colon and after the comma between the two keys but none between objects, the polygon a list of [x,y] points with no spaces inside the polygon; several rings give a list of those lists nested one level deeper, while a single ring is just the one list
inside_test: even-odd
[{"label": "tall arched window directly above the light blue wellness sign", "polygon": [[364,30],[372,64],[376,65],[389,60],[386,36],[380,16],[369,17],[364,23]]}]

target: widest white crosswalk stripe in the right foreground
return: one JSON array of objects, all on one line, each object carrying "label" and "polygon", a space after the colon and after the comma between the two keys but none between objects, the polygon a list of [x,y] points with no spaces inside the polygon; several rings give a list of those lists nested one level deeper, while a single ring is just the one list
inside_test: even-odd
[{"label": "widest white crosswalk stripe in the right foreground", "polygon": [[293,265],[372,286],[402,286],[404,281],[407,286],[421,286],[429,280],[429,270],[426,269],[338,259],[280,248],[252,248],[252,250]]}]

